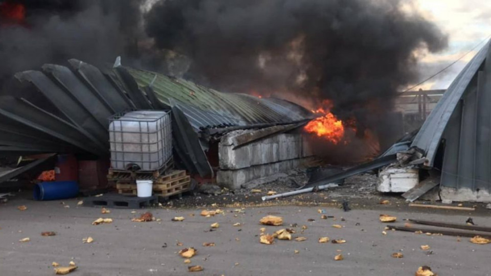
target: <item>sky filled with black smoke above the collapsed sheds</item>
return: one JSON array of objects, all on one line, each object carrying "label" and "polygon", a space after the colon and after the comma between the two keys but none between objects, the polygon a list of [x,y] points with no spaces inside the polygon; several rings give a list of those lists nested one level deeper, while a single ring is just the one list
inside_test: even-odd
[{"label": "sky filled with black smoke above the collapsed sheds", "polygon": [[[0,77],[118,55],[123,64],[165,71],[163,53],[172,50],[191,60],[185,77],[199,83],[329,99],[337,113],[352,115],[389,104],[395,90],[485,37],[491,4],[471,2],[0,0]],[[6,3],[23,4],[25,18],[6,20]],[[423,87],[446,87],[471,57]]]}]

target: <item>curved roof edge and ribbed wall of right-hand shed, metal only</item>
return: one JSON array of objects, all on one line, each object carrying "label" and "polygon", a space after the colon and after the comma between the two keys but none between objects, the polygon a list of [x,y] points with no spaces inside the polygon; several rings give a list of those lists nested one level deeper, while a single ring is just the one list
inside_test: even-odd
[{"label": "curved roof edge and ribbed wall of right-hand shed, metal only", "polygon": [[411,144],[426,166],[441,166],[445,187],[491,191],[490,43],[452,82]]}]

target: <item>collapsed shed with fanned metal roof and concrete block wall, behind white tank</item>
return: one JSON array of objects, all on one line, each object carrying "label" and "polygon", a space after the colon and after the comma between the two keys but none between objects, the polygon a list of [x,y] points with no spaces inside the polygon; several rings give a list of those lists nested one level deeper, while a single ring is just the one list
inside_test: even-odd
[{"label": "collapsed shed with fanned metal roof and concrete block wall, behind white tank", "polygon": [[162,109],[172,111],[177,166],[202,178],[217,175],[217,181],[230,188],[292,169],[311,155],[302,135],[291,132],[313,114],[295,103],[220,93],[124,67],[119,58],[112,68],[76,59],[69,63],[45,64],[41,71],[15,75],[28,92],[8,91],[0,99],[0,152],[107,159],[108,119],[113,114]]}]

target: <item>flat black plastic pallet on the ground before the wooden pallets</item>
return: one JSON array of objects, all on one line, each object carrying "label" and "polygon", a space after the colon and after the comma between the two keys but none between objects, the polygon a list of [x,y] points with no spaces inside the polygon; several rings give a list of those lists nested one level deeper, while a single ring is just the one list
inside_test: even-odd
[{"label": "flat black plastic pallet on the ground before the wooden pallets", "polygon": [[105,194],[99,197],[94,196],[83,199],[83,205],[87,207],[139,209],[158,203],[157,196],[137,197],[120,194]]}]

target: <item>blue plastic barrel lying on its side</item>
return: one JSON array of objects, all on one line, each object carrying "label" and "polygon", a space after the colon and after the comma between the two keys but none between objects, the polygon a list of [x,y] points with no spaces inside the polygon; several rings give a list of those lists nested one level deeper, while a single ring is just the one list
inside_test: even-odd
[{"label": "blue plastic barrel lying on its side", "polygon": [[41,182],[34,186],[35,200],[55,200],[72,198],[78,195],[77,181]]}]

